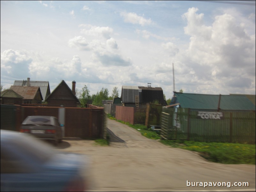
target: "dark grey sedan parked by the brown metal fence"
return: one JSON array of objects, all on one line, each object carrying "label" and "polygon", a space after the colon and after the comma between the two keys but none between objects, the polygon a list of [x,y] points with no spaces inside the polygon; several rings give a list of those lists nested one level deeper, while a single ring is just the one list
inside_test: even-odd
[{"label": "dark grey sedan parked by the brown metal fence", "polygon": [[53,116],[27,116],[21,124],[20,132],[52,140],[55,145],[62,141],[62,128],[58,119]]}]

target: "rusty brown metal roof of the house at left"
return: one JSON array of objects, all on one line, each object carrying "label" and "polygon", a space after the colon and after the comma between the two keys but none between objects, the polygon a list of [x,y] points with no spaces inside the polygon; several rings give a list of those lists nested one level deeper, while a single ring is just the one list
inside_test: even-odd
[{"label": "rusty brown metal roof of the house at left", "polygon": [[24,99],[27,99],[27,100],[34,100],[34,98],[36,97],[37,93],[39,92],[41,100],[43,100],[40,87],[13,86],[12,85],[10,89],[15,91],[16,93],[18,93],[19,95],[24,97]]}]

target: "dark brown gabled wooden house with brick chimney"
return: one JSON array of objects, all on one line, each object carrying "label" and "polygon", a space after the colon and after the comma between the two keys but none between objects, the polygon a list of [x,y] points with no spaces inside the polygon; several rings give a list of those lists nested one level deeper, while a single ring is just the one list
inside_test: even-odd
[{"label": "dark brown gabled wooden house with brick chimney", "polygon": [[45,99],[49,107],[78,107],[80,101],[76,97],[76,82],[72,82],[72,90],[64,80]]}]

